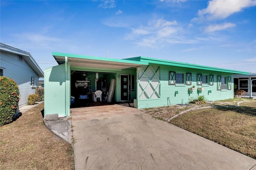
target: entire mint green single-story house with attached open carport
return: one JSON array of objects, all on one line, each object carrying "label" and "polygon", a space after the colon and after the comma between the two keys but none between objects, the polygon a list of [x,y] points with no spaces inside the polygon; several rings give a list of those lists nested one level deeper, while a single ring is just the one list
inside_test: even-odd
[{"label": "entire mint green single-story house with attached open carport", "polygon": [[234,97],[234,75],[248,74],[148,57],[52,55],[59,65],[44,70],[44,116],[68,117],[71,98],[75,103],[82,97],[92,101],[91,94],[99,89],[102,98],[108,97],[113,79],[112,101],[134,101],[134,107],[140,109],[185,104],[198,95],[209,101],[230,99]]}]

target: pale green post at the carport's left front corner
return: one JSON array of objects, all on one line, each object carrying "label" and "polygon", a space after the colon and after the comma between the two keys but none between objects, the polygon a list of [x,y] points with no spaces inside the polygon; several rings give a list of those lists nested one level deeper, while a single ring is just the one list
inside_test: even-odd
[{"label": "pale green post at the carport's left front corner", "polygon": [[65,103],[65,116],[70,116],[70,65],[68,64],[68,57],[65,57],[65,94],[66,94],[66,103]]}]

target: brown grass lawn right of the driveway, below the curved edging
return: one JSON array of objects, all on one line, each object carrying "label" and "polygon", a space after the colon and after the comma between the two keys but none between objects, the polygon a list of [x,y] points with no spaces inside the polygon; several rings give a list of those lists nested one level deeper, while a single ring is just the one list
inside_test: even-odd
[{"label": "brown grass lawn right of the driveway, below the curved edging", "polygon": [[170,123],[256,159],[256,101],[223,102],[229,106],[190,111]]}]

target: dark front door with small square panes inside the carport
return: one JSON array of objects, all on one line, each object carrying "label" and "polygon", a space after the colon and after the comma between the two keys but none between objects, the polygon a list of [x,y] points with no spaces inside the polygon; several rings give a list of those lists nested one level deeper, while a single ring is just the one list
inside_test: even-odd
[{"label": "dark front door with small square panes inside the carport", "polygon": [[130,100],[130,75],[120,75],[121,76],[121,101]]}]

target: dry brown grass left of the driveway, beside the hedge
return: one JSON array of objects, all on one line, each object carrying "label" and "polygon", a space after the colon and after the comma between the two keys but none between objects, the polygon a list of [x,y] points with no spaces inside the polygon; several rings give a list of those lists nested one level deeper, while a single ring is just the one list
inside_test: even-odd
[{"label": "dry brown grass left of the driveway, beside the hedge", "polygon": [[41,103],[0,127],[0,169],[74,169],[71,144],[44,126],[43,109]]}]

